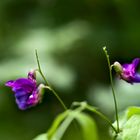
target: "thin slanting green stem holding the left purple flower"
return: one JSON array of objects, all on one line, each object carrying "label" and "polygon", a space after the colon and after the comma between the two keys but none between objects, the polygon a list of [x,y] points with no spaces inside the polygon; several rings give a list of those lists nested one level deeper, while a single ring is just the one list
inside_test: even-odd
[{"label": "thin slanting green stem holding the left purple flower", "polygon": [[35,54],[36,54],[36,60],[37,60],[37,65],[38,65],[38,72],[40,73],[40,75],[42,76],[42,78],[44,79],[45,83],[46,83],[46,86],[49,87],[49,89],[52,91],[52,93],[55,95],[55,97],[58,99],[58,101],[61,103],[61,105],[63,106],[63,108],[65,110],[67,110],[67,107],[66,105],[64,104],[64,102],[62,101],[62,99],[58,96],[58,94],[56,93],[56,91],[51,88],[50,84],[48,83],[47,79],[45,78],[42,70],[41,70],[41,66],[40,66],[40,62],[39,62],[39,57],[38,57],[38,53],[37,53],[37,50],[35,50]]}]

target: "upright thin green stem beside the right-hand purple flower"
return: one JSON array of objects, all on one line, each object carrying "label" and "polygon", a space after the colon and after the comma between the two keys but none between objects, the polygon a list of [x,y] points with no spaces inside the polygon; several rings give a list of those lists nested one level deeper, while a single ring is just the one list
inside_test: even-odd
[{"label": "upright thin green stem beside the right-hand purple flower", "polygon": [[112,66],[110,65],[109,55],[107,53],[106,47],[103,48],[103,51],[105,53],[107,63],[108,63],[108,67],[109,67],[109,77],[110,77],[111,89],[112,89],[112,94],[113,94],[113,99],[114,99],[114,104],[115,104],[115,113],[116,113],[116,121],[117,121],[117,133],[118,133],[119,132],[119,118],[118,118],[117,100],[116,100],[115,90],[114,90],[114,85],[113,85],[113,80],[112,80]]}]

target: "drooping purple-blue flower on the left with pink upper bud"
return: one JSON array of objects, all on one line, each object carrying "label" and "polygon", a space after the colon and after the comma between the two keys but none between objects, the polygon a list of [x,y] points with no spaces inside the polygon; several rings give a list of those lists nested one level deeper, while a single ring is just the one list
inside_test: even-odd
[{"label": "drooping purple-blue flower on the left with pink upper bud", "polygon": [[35,106],[41,101],[41,86],[37,87],[34,70],[28,73],[28,78],[10,80],[5,85],[15,92],[16,103],[21,110]]}]

